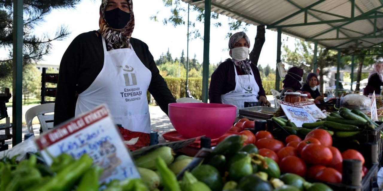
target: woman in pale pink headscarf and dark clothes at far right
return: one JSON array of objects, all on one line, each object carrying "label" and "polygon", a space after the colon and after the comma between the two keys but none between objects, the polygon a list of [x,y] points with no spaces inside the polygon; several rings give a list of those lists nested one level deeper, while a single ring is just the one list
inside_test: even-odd
[{"label": "woman in pale pink headscarf and dark clothes at far right", "polygon": [[383,86],[383,75],[381,71],[383,69],[383,63],[377,62],[374,64],[374,70],[368,74],[368,83],[363,90],[363,95],[380,94],[380,86]]}]

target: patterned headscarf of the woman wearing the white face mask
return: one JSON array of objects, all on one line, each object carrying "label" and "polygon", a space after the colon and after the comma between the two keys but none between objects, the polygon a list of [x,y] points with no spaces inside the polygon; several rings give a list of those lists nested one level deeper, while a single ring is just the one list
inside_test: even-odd
[{"label": "patterned headscarf of the woman wearing the white face mask", "polygon": [[[242,38],[246,39],[247,44],[249,44],[249,47],[250,47],[250,40],[249,40],[249,37],[247,37],[246,33],[244,33],[244,32],[234,33],[229,39],[229,55],[230,55],[230,57],[231,57],[231,49],[233,49],[234,45],[238,42],[238,40],[242,39]],[[251,71],[251,68],[250,68],[251,61],[249,60],[249,58],[246,58],[246,60],[234,60],[232,58],[231,61],[234,63],[234,65],[241,68],[242,73],[251,75],[251,72],[250,72]]]}]

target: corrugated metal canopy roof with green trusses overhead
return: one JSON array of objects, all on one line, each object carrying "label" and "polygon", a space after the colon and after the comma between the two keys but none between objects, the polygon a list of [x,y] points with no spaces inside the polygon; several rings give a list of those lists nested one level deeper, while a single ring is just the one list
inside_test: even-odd
[{"label": "corrugated metal canopy roof with green trusses overhead", "polygon": [[[205,8],[203,0],[182,0]],[[331,49],[383,42],[383,0],[211,0],[211,11]]]}]

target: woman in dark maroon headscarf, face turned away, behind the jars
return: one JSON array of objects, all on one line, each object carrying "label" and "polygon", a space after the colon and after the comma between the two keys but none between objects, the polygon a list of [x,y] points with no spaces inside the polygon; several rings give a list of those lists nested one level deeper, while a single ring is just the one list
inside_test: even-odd
[{"label": "woman in dark maroon headscarf, face turned away, behind the jars", "polygon": [[283,82],[283,89],[281,91],[281,96],[285,95],[285,92],[288,89],[291,89],[293,92],[301,90],[303,83],[303,69],[298,67],[291,67],[288,69],[287,74]]}]

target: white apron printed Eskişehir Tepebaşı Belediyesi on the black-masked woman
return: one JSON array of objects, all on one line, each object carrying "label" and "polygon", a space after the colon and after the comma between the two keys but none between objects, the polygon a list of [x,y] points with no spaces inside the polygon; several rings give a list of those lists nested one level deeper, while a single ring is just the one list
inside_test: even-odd
[{"label": "white apron printed Eski\u015fehir Tepeba\u015f\u0131 Belediyesi on the black-masked woman", "polygon": [[142,64],[133,47],[106,51],[104,37],[102,45],[104,66],[88,89],[79,94],[75,117],[106,104],[116,124],[130,131],[150,133],[146,91],[151,71]]}]

